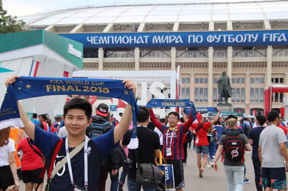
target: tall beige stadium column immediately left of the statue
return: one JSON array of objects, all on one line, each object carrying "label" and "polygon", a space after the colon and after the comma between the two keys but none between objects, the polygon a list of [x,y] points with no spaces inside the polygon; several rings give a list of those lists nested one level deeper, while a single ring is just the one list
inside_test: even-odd
[{"label": "tall beige stadium column immediately left of the statue", "polygon": [[213,107],[213,47],[208,48],[208,107]]}]

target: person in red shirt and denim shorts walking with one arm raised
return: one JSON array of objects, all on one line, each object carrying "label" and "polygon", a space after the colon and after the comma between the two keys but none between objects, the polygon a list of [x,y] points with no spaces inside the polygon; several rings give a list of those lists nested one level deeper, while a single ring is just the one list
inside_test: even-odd
[{"label": "person in red shirt and denim shorts walking with one arm raised", "polygon": [[[197,153],[197,166],[199,168],[200,178],[203,177],[204,168],[206,167],[207,160],[208,160],[209,143],[207,139],[207,133],[208,133],[208,130],[212,130],[211,124],[215,123],[218,120],[219,114],[220,114],[220,109],[217,108],[217,115],[215,116],[213,120],[208,121],[208,122],[204,122],[204,120],[202,119],[202,115],[197,114],[196,119],[198,123],[193,123],[191,125],[192,130],[196,130],[195,144],[196,144],[196,153]],[[203,161],[201,162],[202,154],[203,154]]]}]

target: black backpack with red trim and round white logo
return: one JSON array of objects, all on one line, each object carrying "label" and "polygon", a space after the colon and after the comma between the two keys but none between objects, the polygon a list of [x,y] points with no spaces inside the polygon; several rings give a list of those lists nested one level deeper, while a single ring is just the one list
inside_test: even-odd
[{"label": "black backpack with red trim and round white logo", "polygon": [[224,152],[226,153],[226,159],[230,162],[244,162],[244,143],[240,137],[240,133],[238,131],[229,131],[224,132],[224,134],[228,135],[224,140],[224,149],[222,153],[222,162]]}]

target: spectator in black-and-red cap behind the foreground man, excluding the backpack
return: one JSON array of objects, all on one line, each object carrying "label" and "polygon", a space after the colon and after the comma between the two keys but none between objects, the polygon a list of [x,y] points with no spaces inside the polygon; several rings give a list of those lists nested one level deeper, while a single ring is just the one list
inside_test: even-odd
[{"label": "spectator in black-and-red cap behind the foreground man, excluding the backpack", "polygon": [[[92,116],[92,123],[102,124],[106,121],[109,121],[109,118],[110,113],[108,105],[106,105],[105,103],[101,103],[96,107],[96,116]],[[111,130],[113,126],[108,123],[106,128],[108,128],[108,130]],[[119,177],[119,157],[119,148],[116,147],[113,151],[109,153],[108,156],[106,156],[106,158],[102,160],[99,177],[99,191],[105,190],[108,173],[110,174],[111,179],[110,190],[117,191]]]}]

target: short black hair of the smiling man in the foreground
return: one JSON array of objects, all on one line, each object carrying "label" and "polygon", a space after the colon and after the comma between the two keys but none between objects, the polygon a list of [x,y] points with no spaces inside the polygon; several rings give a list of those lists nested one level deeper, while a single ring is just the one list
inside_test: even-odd
[{"label": "short black hair of the smiling man in the foreground", "polygon": [[68,113],[69,109],[82,109],[84,110],[87,119],[90,119],[92,116],[92,106],[91,104],[83,99],[83,98],[73,98],[65,103],[64,105],[64,112],[63,115],[66,117],[66,114]]}]

